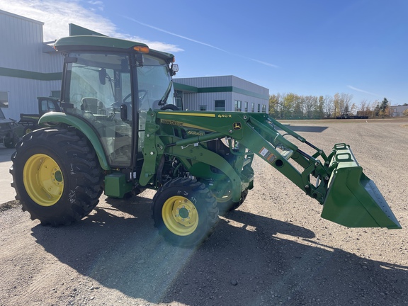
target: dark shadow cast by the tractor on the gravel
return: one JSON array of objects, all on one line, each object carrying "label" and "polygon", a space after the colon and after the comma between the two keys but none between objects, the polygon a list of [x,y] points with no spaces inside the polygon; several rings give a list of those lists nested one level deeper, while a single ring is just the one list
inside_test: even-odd
[{"label": "dark shadow cast by the tractor on the gravel", "polygon": [[407,300],[407,266],[320,245],[314,232],[288,222],[236,210],[200,247],[182,249],[166,244],[154,229],[152,200],[143,193],[101,204],[82,222],[38,225],[32,234],[62,263],[130,299],[183,305]]}]

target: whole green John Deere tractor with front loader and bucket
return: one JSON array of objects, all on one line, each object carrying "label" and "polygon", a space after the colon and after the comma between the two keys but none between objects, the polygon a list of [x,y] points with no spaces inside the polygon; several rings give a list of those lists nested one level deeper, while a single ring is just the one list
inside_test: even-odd
[{"label": "whole green John Deere tractor with front loader and bucket", "polygon": [[322,217],[401,227],[348,145],[325,154],[266,113],[182,111],[174,56],[142,43],[72,36],[55,49],[64,55],[62,111],[42,115],[43,128],[18,142],[10,170],[16,199],[42,225],[81,220],[103,192],[124,198],[151,188],[160,234],[196,246],[218,215],[244,202],[257,155],[322,204]]}]

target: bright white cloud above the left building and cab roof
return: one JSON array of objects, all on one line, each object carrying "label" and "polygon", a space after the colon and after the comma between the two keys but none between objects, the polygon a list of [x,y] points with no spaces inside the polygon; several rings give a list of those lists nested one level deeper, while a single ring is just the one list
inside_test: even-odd
[{"label": "bright white cloud above the left building and cab roof", "polygon": [[[89,1],[88,4],[103,8],[101,1]],[[69,35],[68,24],[89,28],[105,35],[144,42],[153,49],[164,52],[178,52],[182,49],[166,42],[149,41],[144,38],[120,33],[118,28],[108,18],[95,13],[93,8],[84,8],[79,1],[55,0],[13,0],[0,1],[0,9],[19,16],[34,19],[44,23],[44,41],[53,41]]]}]

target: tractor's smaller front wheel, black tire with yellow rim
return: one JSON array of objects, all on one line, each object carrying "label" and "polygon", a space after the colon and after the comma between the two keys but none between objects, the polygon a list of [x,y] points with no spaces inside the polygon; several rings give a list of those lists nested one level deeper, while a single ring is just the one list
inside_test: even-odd
[{"label": "tractor's smaller front wheel, black tire with yellow rim", "polygon": [[176,246],[198,246],[218,222],[215,198],[203,183],[179,178],[164,184],[153,198],[154,226]]}]

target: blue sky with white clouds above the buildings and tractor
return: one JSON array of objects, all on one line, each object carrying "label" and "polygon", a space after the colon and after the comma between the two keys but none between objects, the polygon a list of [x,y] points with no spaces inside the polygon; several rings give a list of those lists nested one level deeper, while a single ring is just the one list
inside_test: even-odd
[{"label": "blue sky with white clouds above the buildings and tractor", "polygon": [[176,77],[234,75],[270,94],[408,103],[408,1],[0,0],[0,9],[172,52]]}]

